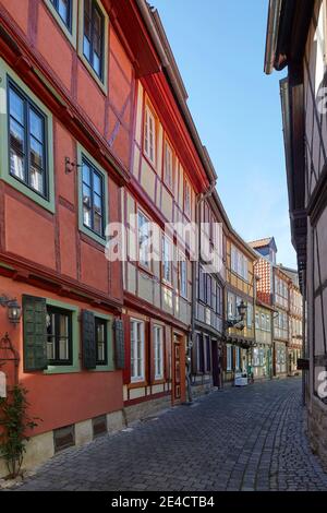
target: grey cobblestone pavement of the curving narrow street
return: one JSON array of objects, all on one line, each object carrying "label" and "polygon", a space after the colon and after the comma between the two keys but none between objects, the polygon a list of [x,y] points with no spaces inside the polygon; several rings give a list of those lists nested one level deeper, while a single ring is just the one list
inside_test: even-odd
[{"label": "grey cobblestone pavement of the curving narrow street", "polygon": [[70,449],[17,490],[327,490],[303,428],[301,380],[226,389]]}]

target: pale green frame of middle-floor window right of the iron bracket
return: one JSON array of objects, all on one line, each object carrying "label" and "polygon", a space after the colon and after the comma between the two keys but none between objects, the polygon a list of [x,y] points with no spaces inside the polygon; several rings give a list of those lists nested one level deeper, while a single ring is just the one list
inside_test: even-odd
[{"label": "pale green frame of middle-floor window right of the iron bracket", "polygon": [[90,165],[97,170],[99,175],[104,178],[104,214],[102,214],[102,223],[104,223],[104,236],[99,236],[96,231],[92,230],[87,226],[84,225],[84,212],[83,212],[83,167],[78,167],[78,229],[87,237],[90,237],[96,242],[101,246],[107,244],[107,237],[106,237],[106,227],[108,225],[108,212],[109,212],[109,191],[108,191],[108,174],[107,171],[97,163],[97,160],[80,144],[77,143],[77,162],[78,164],[83,163],[83,159],[86,159],[90,163]]}]

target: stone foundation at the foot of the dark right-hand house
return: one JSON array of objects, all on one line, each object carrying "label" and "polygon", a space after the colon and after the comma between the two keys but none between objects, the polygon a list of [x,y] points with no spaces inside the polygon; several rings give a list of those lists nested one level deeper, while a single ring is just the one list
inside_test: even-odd
[{"label": "stone foundation at the foot of the dark right-hand house", "polygon": [[308,438],[312,450],[327,472],[327,405],[316,397],[311,399],[307,413]]}]

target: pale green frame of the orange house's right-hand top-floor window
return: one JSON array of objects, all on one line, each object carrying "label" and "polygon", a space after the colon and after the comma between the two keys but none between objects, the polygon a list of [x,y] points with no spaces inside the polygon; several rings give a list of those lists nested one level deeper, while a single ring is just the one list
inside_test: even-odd
[{"label": "pale green frame of the orange house's right-hand top-floor window", "polygon": [[102,41],[102,77],[100,79],[97,72],[93,69],[92,64],[89,63],[88,59],[84,55],[84,7],[85,0],[80,0],[78,5],[78,57],[84,63],[85,68],[96,81],[102,93],[105,95],[108,94],[108,48],[109,48],[109,15],[102,5],[100,0],[93,0],[97,4],[99,12],[101,12],[104,16],[104,41]]}]

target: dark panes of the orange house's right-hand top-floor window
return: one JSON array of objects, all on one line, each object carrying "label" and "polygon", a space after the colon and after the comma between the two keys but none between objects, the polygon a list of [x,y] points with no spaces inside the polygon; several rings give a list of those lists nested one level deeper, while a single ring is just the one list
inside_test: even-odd
[{"label": "dark panes of the orange house's right-hand top-floor window", "polygon": [[96,0],[84,0],[83,53],[99,79],[104,79],[105,17]]}]

